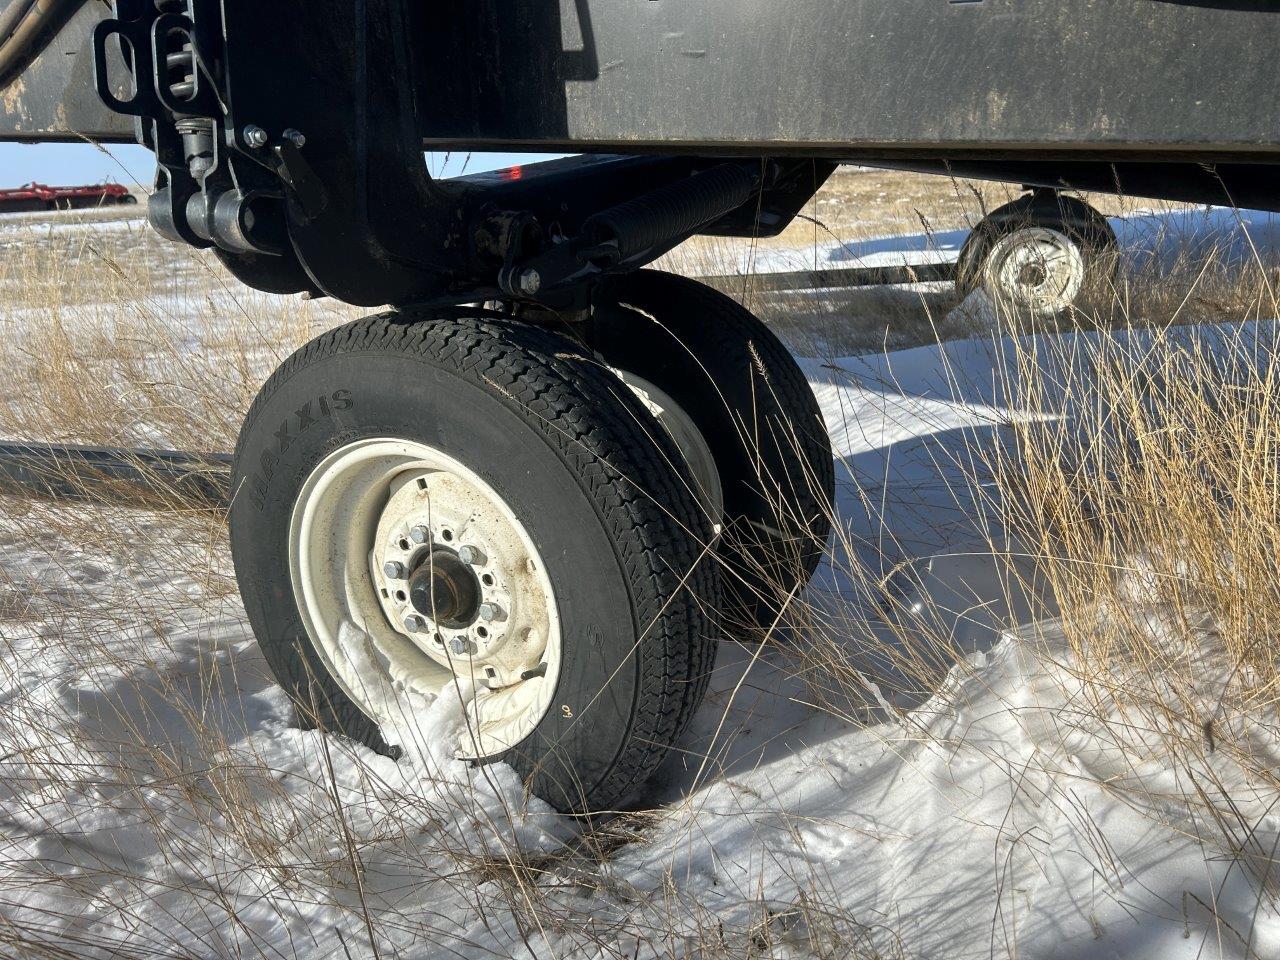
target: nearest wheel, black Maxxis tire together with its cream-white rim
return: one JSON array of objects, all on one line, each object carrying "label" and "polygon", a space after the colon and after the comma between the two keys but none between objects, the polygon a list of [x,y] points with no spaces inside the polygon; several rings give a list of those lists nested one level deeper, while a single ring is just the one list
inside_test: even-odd
[{"label": "nearest wheel, black Maxxis tire together with its cream-white rim", "polygon": [[[507,540],[477,540],[474,553],[458,545],[453,559],[444,557],[489,564],[475,572],[486,571],[486,584],[497,579],[493,589],[527,571],[524,586],[511,586],[503,620],[483,608],[474,616],[497,630],[530,609],[547,614],[545,636],[535,625],[509,641],[545,640],[536,654],[544,675],[534,669],[504,687],[531,691],[535,705],[545,701],[530,721],[536,726],[500,750],[479,733],[470,745],[463,737],[463,754],[506,760],[561,810],[623,803],[696,710],[718,639],[719,572],[704,547],[710,529],[671,466],[678,452],[664,436],[650,436],[650,426],[636,397],[585,362],[571,340],[497,317],[385,314],[340,326],[289,357],[253,402],[237,445],[230,540],[250,622],[300,717],[396,755],[401,728],[379,713],[403,709],[394,677],[424,677],[434,686],[428,692],[456,681],[449,669],[434,669],[440,663],[433,657],[445,654],[430,646],[429,635],[435,631],[439,643],[445,627],[474,626],[449,626],[442,616],[425,632],[406,634],[389,617],[355,620],[393,602],[376,586],[383,531],[393,530],[387,549],[408,539],[381,525],[408,489],[408,502],[420,497],[436,518],[419,540],[433,568],[451,544],[480,536],[474,526],[483,534],[507,525]],[[389,458],[369,460],[369,451]],[[397,460],[397,452],[408,458]],[[411,480],[424,457],[439,460],[417,475],[421,490],[430,488],[419,494]],[[461,495],[445,493],[451,484],[492,502],[463,497],[451,506],[448,498]],[[451,522],[449,511],[466,517],[452,524],[456,534],[435,529],[436,521]],[[375,521],[378,532],[365,538]],[[524,547],[512,548],[517,535]],[[335,543],[346,549],[335,552]],[[503,543],[515,550],[515,567],[494,556]],[[420,570],[425,562],[417,561]],[[544,584],[541,593],[534,581]],[[330,582],[340,584],[337,593],[326,589]],[[434,594],[431,603],[434,616]],[[334,616],[362,625],[358,643],[340,623],[334,628]],[[498,703],[504,694],[486,695]]]}]

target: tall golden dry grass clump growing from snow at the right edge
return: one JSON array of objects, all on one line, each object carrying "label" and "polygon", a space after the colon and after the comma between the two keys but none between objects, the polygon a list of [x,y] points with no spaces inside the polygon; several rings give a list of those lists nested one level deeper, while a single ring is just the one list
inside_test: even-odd
[{"label": "tall golden dry grass clump growing from snow at the right edge", "polygon": [[[1004,471],[1009,524],[1057,598],[1085,712],[1137,755],[1176,758],[1203,792],[1193,803],[1233,806],[1226,846],[1268,873],[1274,852],[1253,849],[1249,824],[1253,801],[1280,799],[1276,337],[1272,324],[1172,329],[1139,348],[1107,334],[1074,374],[1051,364],[1051,387],[1032,367],[1046,358],[1024,355],[1021,399],[1062,390],[1080,420],[1019,424],[1018,470]],[[1224,786],[1224,763],[1248,799]]]}]

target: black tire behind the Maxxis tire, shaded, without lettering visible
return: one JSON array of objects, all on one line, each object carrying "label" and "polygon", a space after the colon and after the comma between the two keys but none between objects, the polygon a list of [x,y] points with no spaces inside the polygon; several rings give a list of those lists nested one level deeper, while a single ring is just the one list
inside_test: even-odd
[{"label": "black tire behind the Maxxis tire, shaded, without lettering visible", "polygon": [[737,301],[657,270],[605,285],[586,337],[604,364],[671,394],[707,439],[724,489],[723,622],[758,636],[831,534],[831,438],[804,372]]}]

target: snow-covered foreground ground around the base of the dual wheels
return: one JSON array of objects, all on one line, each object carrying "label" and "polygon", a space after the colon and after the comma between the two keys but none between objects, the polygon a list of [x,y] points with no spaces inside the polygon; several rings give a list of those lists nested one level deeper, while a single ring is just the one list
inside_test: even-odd
[{"label": "snow-covered foreground ground around the base of the dual wheels", "polygon": [[[1268,364],[1277,333],[1183,335]],[[1119,339],[1135,370],[1149,335]],[[1087,380],[1097,338],[1038,342],[1061,365],[1043,379]],[[860,695],[815,695],[804,637],[726,641],[646,803],[611,823],[453,760],[448,694],[398,763],[300,728],[215,521],[0,502],[0,956],[1280,956],[1280,788],[1114,722],[1052,598],[1006,586],[1010,424],[1088,406],[1028,403],[1014,353],[801,361],[840,461],[806,602]],[[891,622],[859,577],[932,620]],[[925,626],[968,653],[928,689],[883,655]],[[1188,803],[1204,783],[1225,792]]]}]

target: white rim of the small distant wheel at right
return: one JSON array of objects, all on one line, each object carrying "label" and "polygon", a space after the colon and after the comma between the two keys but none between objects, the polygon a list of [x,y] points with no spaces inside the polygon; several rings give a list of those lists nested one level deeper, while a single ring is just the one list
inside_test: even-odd
[{"label": "white rim of the small distant wheel at right", "polygon": [[1084,256],[1065,233],[1028,227],[1000,238],[983,274],[983,285],[996,300],[1046,316],[1075,302],[1084,285]]}]

